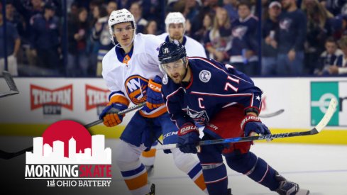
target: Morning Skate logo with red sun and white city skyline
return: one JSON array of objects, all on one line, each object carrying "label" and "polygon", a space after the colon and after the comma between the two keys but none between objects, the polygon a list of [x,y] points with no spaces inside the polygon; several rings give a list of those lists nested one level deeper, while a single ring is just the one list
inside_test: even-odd
[{"label": "Morning Skate logo with red sun and white city skyline", "polygon": [[75,121],[58,121],[26,152],[26,179],[45,179],[46,186],[110,186],[111,148],[104,135],[90,135]]}]

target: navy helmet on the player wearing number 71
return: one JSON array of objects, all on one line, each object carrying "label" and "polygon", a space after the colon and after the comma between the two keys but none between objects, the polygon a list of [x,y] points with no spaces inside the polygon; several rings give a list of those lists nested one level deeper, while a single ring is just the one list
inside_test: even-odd
[{"label": "navy helmet on the player wearing number 71", "polygon": [[161,64],[175,62],[185,57],[187,57],[187,53],[184,45],[178,40],[171,40],[160,45],[158,58]]}]

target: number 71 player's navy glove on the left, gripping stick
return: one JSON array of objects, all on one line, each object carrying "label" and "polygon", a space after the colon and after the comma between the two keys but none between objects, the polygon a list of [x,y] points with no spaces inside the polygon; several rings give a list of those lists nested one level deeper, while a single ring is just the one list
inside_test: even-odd
[{"label": "number 71 player's navy glove on the left, gripping stick", "polygon": [[197,153],[197,145],[199,144],[199,128],[192,123],[185,123],[178,130],[177,146],[181,152]]}]

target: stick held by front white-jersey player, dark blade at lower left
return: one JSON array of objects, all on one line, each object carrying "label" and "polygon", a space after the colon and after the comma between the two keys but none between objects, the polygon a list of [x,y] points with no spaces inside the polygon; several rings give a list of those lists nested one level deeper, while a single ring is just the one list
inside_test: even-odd
[{"label": "stick held by front white-jersey player, dark blade at lower left", "polygon": [[[129,112],[131,112],[131,111],[133,111],[133,110],[136,110],[136,109],[138,109],[138,108],[141,108],[142,106],[145,106],[145,102],[143,102],[143,103],[141,103],[141,104],[138,104],[138,105],[136,105],[136,106],[132,106],[132,107],[130,107],[130,108],[126,108],[126,109],[124,109],[123,111],[120,111],[118,114],[129,113]],[[94,121],[94,122],[92,122],[92,123],[88,123],[88,124],[85,125],[84,127],[85,127],[85,128],[91,128],[92,126],[96,126],[97,124],[102,123],[102,122],[103,122],[103,120],[100,119],[100,120]],[[13,158],[13,157],[17,157],[17,156],[19,156],[19,155],[23,155],[23,154],[25,154],[26,152],[30,152],[30,151],[33,151],[33,146],[28,147],[28,148],[23,149],[23,150],[20,150],[20,151],[18,151],[18,152],[5,152],[5,151],[3,151],[3,150],[0,150],[0,159],[2,158],[2,159],[8,160],[8,159],[11,159],[11,158]]]}]

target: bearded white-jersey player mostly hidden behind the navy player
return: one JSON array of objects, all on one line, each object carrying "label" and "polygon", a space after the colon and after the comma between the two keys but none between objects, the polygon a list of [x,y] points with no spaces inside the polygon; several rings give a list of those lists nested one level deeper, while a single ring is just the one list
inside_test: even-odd
[{"label": "bearded white-jersey player mostly hidden behind the navy player", "polygon": [[[166,33],[158,35],[158,38],[162,42],[170,40],[178,40],[187,50],[187,56],[189,57],[206,57],[206,52],[202,44],[197,42],[189,36],[184,35],[185,32],[185,18],[180,12],[170,12],[165,18]],[[155,142],[149,151],[145,151],[141,155],[141,162],[148,170],[148,175],[152,175],[154,171],[155,162],[155,147],[158,142]]]}]

